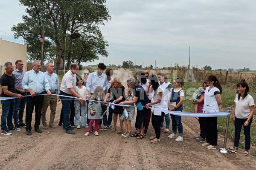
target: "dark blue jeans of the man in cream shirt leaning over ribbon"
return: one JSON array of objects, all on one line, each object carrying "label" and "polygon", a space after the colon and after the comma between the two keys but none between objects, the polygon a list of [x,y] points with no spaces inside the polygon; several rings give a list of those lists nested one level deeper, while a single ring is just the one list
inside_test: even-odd
[{"label": "dark blue jeans of the man in cream shirt leaning over ribbon", "polygon": [[[66,94],[63,91],[60,91],[60,95],[64,96],[72,96],[70,94]],[[70,126],[70,108],[71,108],[71,99],[68,97],[60,96],[62,111],[63,111],[63,123],[66,130],[71,130]]]}]

